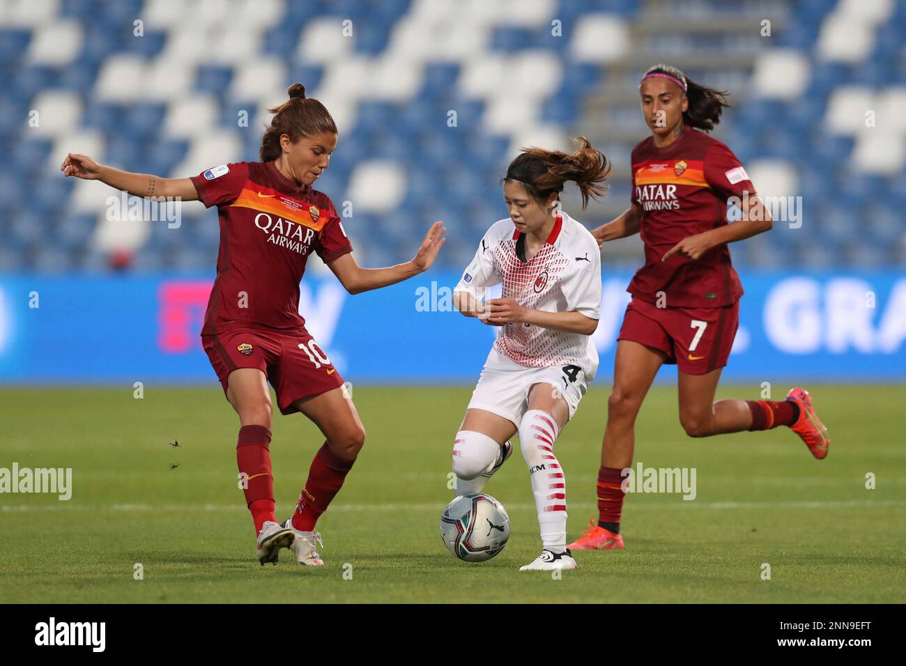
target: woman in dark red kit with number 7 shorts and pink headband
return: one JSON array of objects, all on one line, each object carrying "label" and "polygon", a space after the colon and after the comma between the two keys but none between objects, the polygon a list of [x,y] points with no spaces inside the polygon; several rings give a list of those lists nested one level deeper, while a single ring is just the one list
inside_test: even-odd
[{"label": "woman in dark red kit with number 7 shorts and pink headband", "polygon": [[[721,92],[659,64],[641,79],[641,112],[651,137],[632,150],[632,205],[593,231],[599,245],[641,233],[645,265],[632,278],[617,340],[613,389],[598,473],[597,524],[570,549],[622,549],[624,468],[631,467],[641,402],[663,363],[679,371],[679,421],[690,437],[788,426],[815,458],[831,440],[808,391],[785,401],[714,401],[736,336],[742,285],[727,246],[771,228],[746,169],[705,132],[727,106]],[[742,217],[727,223],[728,204]]]}]

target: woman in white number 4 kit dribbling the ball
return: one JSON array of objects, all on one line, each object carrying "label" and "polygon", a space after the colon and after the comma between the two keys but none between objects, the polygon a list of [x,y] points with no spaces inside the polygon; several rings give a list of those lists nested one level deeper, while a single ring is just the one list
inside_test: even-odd
[{"label": "woman in white number 4 kit dribbling the ball", "polygon": [[[453,444],[457,495],[480,492],[518,433],[543,550],[530,569],[575,568],[566,550],[566,478],[554,442],[598,368],[591,334],[601,308],[601,255],[589,231],[559,208],[572,180],[583,208],[604,192],[604,155],[583,138],[572,154],[524,150],[506,170],[510,217],[487,230],[454,290],[462,314],[499,326]],[[482,300],[503,285],[501,298]]]}]

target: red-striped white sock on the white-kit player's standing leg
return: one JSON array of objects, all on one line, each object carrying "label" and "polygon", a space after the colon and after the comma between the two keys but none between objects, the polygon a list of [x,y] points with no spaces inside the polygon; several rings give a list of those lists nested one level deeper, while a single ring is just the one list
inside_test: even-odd
[{"label": "red-striped white sock on the white-kit player's standing leg", "polygon": [[519,423],[519,439],[532,479],[541,541],[547,550],[563,553],[566,550],[566,478],[554,455],[557,434],[557,422],[546,411],[526,411]]}]

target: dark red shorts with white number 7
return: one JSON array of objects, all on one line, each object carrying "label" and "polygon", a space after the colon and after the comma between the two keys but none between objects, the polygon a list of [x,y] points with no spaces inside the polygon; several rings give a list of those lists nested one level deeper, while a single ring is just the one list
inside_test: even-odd
[{"label": "dark red shorts with white number 7", "polygon": [[739,327],[739,301],[723,307],[658,307],[633,298],[617,340],[660,349],[687,374],[727,365]]}]

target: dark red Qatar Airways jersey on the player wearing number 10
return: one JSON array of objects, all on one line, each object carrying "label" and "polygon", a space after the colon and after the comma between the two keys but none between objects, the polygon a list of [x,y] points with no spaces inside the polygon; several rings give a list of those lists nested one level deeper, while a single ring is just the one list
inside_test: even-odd
[{"label": "dark red Qatar Airways jersey on the player wearing number 10", "polygon": [[299,281],[312,251],[324,262],[352,252],[327,195],[286,178],[274,162],[207,169],[192,183],[220,214],[217,279],[202,335],[299,329]]}]

